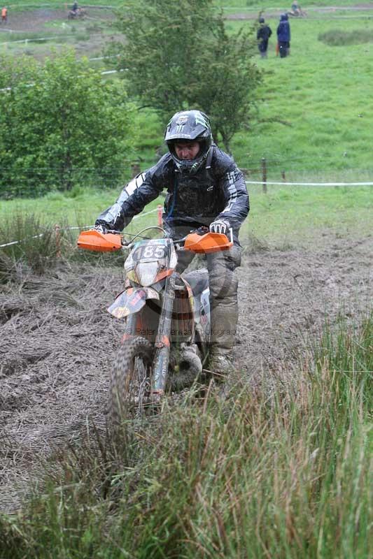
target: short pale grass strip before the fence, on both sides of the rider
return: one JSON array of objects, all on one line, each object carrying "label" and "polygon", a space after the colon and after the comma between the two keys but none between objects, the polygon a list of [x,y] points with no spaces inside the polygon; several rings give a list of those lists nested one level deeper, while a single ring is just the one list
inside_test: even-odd
[{"label": "short pale grass strip before the fence, on both sides of the rider", "polygon": [[[321,233],[358,238],[371,233],[372,187],[274,187],[267,194],[260,185],[248,186],[251,212],[241,229],[243,245],[257,238],[274,247],[308,245]],[[33,214],[44,224],[92,225],[99,213],[113,204],[118,191],[75,189],[69,193],[51,193],[43,198],[19,199],[0,203],[0,219]],[[159,198],[144,211],[163,204]],[[144,224],[156,224],[156,212],[134,219],[126,231],[134,233]],[[12,228],[0,234],[0,244],[15,240]],[[1,238],[2,236],[2,238]]]}]

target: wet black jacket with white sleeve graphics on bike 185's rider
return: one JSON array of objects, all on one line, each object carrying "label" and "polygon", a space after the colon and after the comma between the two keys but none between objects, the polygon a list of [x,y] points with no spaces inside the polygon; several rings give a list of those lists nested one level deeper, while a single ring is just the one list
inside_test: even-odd
[{"label": "wet black jacket with white sleeve graphics on bike 185's rider", "polygon": [[230,222],[237,240],[248,215],[248,192],[241,170],[216,145],[211,146],[206,166],[193,175],[178,172],[171,154],[165,154],[125,186],[115,204],[99,215],[96,225],[121,231],[163,189],[167,189],[163,221],[171,234],[178,227],[209,226],[220,218]]}]

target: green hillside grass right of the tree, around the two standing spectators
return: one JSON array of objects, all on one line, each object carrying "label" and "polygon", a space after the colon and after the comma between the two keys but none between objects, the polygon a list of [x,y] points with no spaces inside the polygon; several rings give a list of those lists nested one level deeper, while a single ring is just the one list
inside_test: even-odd
[{"label": "green hillside grass right of the tree, around the two standing spectators", "polygon": [[[275,33],[277,21],[268,21]],[[281,180],[282,171],[290,181],[372,180],[372,158],[366,149],[373,125],[373,101],[367,95],[372,43],[325,45],[318,34],[335,29],[335,22],[324,19],[292,20],[290,26],[290,57],[275,56],[274,37],[268,59],[258,57],[258,66],[266,72],[262,102],[251,130],[234,138],[236,159],[258,177],[265,157],[273,180]],[[373,20],[339,20],[338,28],[372,32]]]}]

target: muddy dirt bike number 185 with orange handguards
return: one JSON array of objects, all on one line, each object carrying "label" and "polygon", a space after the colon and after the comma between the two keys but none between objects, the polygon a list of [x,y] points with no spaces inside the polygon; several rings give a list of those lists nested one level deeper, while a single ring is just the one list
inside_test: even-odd
[{"label": "muddy dirt bike number 185 with orange handguards", "polygon": [[[162,238],[139,238],[159,229]],[[116,233],[80,233],[78,247],[108,252],[129,249],[125,260],[125,289],[108,307],[125,320],[125,333],[111,372],[108,414],[111,425],[125,416],[141,416],[160,405],[164,393],[192,386],[203,375],[211,330],[209,275],[202,268],[176,273],[177,251],[195,254],[232,247],[223,233],[197,230],[183,239],[149,227],[126,241]]]}]

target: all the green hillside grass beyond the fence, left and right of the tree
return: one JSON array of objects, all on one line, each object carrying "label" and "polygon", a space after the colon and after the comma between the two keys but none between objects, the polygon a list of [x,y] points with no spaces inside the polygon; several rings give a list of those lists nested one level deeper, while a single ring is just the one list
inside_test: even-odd
[{"label": "all the green hillside grass beyond the fence, left and right of the tree", "polygon": [[[27,4],[29,8],[41,5]],[[58,2],[50,5],[63,7]],[[262,9],[259,3],[243,1],[222,0],[220,5],[227,13],[242,11],[255,15]],[[373,43],[368,40],[373,37],[371,12],[316,11],[317,7],[325,5],[328,2],[304,6],[309,8],[308,17],[290,20],[291,55],[286,59],[279,59],[274,52],[278,17],[267,17],[264,13],[274,35],[270,40],[268,59],[262,60],[258,56],[255,61],[265,71],[265,78],[251,122],[232,142],[239,166],[248,170],[254,180],[261,176],[263,157],[267,161],[268,178],[272,180],[281,181],[283,173],[290,182],[356,182],[372,177],[369,145],[373,100],[368,94],[373,74]],[[344,1],[340,5],[346,8],[351,3]],[[24,3],[15,2],[12,6],[23,9]],[[275,8],[280,9],[274,0],[266,4],[269,14]],[[281,9],[284,8],[286,6]],[[96,22],[99,26],[96,30],[92,22],[77,23],[73,26],[73,34],[67,34],[60,41],[78,48],[77,54],[82,51],[89,57],[102,54],[99,50],[101,43],[97,41],[110,30],[107,22]],[[62,24],[66,25],[63,21],[56,22],[59,27]],[[251,29],[252,25],[253,20],[227,22],[227,28],[232,30],[239,27]],[[332,46],[319,41],[318,37],[325,33],[339,35],[340,41],[346,38],[349,44]],[[351,34],[356,36],[356,44],[351,44]],[[363,34],[367,42],[359,43]],[[3,36],[6,36],[4,32],[1,33]],[[53,43],[55,41],[29,43],[27,50],[29,53],[34,50],[37,56],[45,55]],[[12,52],[12,45],[7,48]],[[92,65],[102,69],[109,67],[103,61],[92,61]],[[155,148],[162,141],[164,123],[146,111],[142,112],[140,119],[143,121],[143,138],[138,146],[139,159],[141,168],[146,168],[155,160]]]}]

